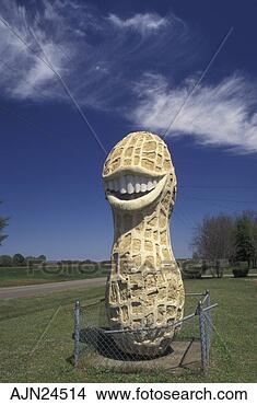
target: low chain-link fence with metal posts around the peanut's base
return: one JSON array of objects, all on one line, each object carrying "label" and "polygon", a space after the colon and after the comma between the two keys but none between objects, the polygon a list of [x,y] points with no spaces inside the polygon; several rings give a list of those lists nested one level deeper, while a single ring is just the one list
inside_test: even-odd
[{"label": "low chain-link fence with metal posts around the peanut's base", "polygon": [[[135,368],[174,369],[185,363],[198,363],[207,372],[210,363],[212,321],[210,292],[187,293],[191,313],[170,325],[140,327],[137,329],[112,329],[105,309],[105,299],[84,306],[74,306],[74,364],[83,360],[85,368],[119,369],[128,372]],[[200,297],[200,300],[199,300]],[[196,300],[198,299],[198,300]],[[190,321],[190,322],[189,322]],[[168,339],[172,329],[180,328],[176,338]],[[163,336],[167,336],[166,340]],[[156,339],[160,337],[159,350]],[[142,354],[133,354],[135,342],[148,339]],[[151,347],[151,342],[154,346]]]}]

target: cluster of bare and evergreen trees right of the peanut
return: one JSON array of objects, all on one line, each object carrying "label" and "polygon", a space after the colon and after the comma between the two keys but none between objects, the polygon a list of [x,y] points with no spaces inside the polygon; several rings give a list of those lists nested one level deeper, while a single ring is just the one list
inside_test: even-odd
[{"label": "cluster of bare and evergreen trees right of the peanut", "polygon": [[207,216],[195,229],[191,247],[195,258],[229,259],[231,264],[257,264],[257,212],[238,216]]}]

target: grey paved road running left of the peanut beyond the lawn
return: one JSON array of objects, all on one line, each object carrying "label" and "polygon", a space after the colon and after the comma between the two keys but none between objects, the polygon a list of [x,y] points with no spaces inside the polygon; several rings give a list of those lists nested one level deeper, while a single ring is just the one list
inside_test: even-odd
[{"label": "grey paved road running left of the peanut beyond the lawn", "polygon": [[70,290],[73,288],[83,287],[98,287],[104,286],[106,277],[89,278],[86,280],[62,281],[62,282],[47,282],[43,285],[21,286],[21,287],[3,287],[0,288],[0,299],[3,298],[19,298],[35,296],[38,293],[48,293],[55,291]]}]

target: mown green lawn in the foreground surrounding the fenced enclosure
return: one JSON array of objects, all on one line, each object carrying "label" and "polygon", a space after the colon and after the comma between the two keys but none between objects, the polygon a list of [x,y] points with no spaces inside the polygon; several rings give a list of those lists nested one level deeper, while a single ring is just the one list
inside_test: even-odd
[{"label": "mown green lawn in the foreground surrounding the fenced enclosure", "polygon": [[[71,363],[73,303],[103,297],[104,288],[87,288],[0,300],[1,382],[255,382],[257,375],[257,280],[186,280],[186,290],[210,289],[217,332],[208,377],[188,372],[173,377],[156,370],[122,374]],[[196,302],[196,301],[195,301]],[[195,304],[187,300],[186,312]],[[189,325],[189,324],[188,324]],[[188,326],[182,335],[187,333]]]}]

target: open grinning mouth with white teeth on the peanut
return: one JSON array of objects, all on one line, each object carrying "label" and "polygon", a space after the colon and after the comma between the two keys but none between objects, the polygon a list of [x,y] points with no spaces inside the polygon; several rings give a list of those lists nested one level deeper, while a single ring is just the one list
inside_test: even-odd
[{"label": "open grinning mouth with white teeth on the peanut", "polygon": [[143,176],[120,174],[104,182],[106,195],[113,195],[120,200],[141,198],[151,193],[163,176]]}]

